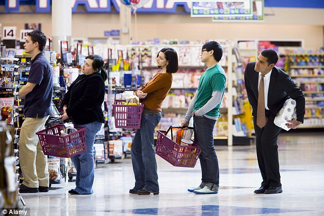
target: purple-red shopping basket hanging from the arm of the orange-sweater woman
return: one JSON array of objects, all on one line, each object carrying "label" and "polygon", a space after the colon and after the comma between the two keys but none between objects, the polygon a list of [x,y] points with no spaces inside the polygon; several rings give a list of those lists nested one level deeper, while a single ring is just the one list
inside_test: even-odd
[{"label": "purple-red shopping basket hanging from the arm of the orange-sweater woman", "polygon": [[[137,89],[116,88],[117,91],[134,91]],[[123,104],[124,103],[124,104]],[[144,109],[144,103],[129,105],[126,104],[126,100],[115,100],[112,104],[112,112],[114,113],[115,127],[116,128],[140,128],[142,112]]]}]

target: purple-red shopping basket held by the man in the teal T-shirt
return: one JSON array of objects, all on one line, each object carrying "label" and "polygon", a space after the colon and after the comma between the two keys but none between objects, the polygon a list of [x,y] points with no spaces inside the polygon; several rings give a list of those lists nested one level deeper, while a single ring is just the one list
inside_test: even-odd
[{"label": "purple-red shopping basket held by the man in the teal T-shirt", "polygon": [[[172,131],[172,127],[175,126],[170,126],[168,131]],[[168,131],[157,130],[155,153],[175,167],[195,167],[200,154],[199,144],[193,140],[191,146],[179,145],[166,136]]]}]

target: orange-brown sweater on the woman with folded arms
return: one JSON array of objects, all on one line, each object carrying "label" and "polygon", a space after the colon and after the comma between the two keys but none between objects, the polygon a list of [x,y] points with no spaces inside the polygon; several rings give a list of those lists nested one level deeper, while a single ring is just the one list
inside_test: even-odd
[{"label": "orange-brown sweater on the woman with folded arms", "polygon": [[171,89],[172,78],[171,73],[157,72],[147,84],[138,88],[138,91],[147,93],[144,102],[145,108],[162,111],[162,102]]}]

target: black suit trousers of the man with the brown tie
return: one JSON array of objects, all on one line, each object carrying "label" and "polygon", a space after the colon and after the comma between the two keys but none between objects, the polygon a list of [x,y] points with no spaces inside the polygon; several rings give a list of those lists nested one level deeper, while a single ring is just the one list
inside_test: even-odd
[{"label": "black suit trousers of the man with the brown tie", "polygon": [[258,164],[263,179],[261,184],[265,187],[281,187],[277,146],[281,128],[273,123],[275,117],[273,114],[267,111],[266,116],[269,120],[263,128],[257,125],[257,116],[253,117]]}]

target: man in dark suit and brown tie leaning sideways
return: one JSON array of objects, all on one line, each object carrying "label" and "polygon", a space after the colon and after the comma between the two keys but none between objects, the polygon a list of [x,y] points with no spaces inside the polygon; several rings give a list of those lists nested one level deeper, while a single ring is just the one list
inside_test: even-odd
[{"label": "man in dark suit and brown tie leaning sideways", "polygon": [[275,67],[278,61],[273,49],[266,49],[257,62],[247,64],[244,72],[245,88],[252,106],[256,132],[258,164],[262,175],[261,187],[256,194],[282,193],[280,182],[277,138],[282,128],[273,121],[289,98],[296,100],[296,120],[287,120],[288,128],[296,128],[304,122],[305,95],[290,76]]}]

